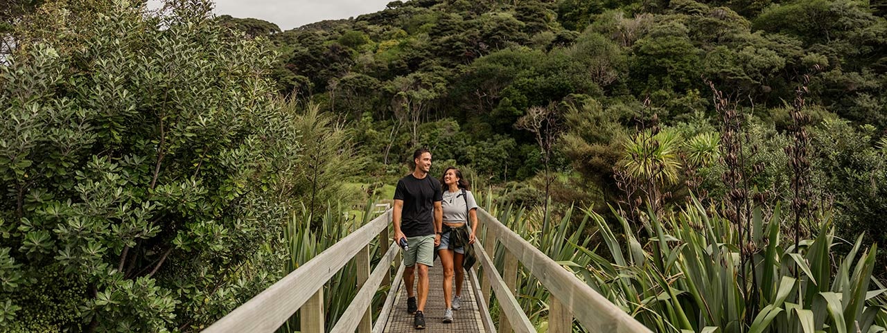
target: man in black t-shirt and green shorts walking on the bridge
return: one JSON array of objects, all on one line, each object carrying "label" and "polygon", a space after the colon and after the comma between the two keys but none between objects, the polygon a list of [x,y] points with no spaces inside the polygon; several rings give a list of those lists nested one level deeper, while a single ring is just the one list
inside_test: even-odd
[{"label": "man in black t-shirt and green shorts walking on the bridge", "polygon": [[[404,252],[404,285],[406,286],[406,311],[415,314],[415,329],[425,329],[425,302],[428,300],[428,267],[434,266],[435,247],[441,241],[443,228],[443,190],[441,183],[428,176],[431,168],[431,152],[426,148],[412,153],[415,167],[397,182],[394,191],[394,241],[400,244],[406,238],[408,249]],[[418,267],[418,269],[416,269]],[[419,286],[412,290],[413,278],[419,271]],[[418,296],[418,304],[417,304]]]}]

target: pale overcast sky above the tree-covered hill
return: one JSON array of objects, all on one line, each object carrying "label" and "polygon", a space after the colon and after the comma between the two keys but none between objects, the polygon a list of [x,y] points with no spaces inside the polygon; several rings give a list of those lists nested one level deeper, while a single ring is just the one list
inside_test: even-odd
[{"label": "pale overcast sky above the tree-covered hill", "polygon": [[[289,30],[324,19],[348,19],[379,12],[393,0],[216,0],[216,15],[264,19]],[[148,0],[157,8],[161,0]]]}]

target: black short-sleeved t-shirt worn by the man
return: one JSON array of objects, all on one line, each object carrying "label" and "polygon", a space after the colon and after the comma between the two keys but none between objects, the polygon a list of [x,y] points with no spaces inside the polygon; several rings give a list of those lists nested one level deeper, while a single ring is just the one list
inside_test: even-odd
[{"label": "black short-sleeved t-shirt worn by the man", "polygon": [[435,233],[435,201],[443,200],[441,182],[428,174],[418,179],[407,174],[397,182],[395,200],[404,200],[400,214],[400,230],[404,236],[427,236]]}]

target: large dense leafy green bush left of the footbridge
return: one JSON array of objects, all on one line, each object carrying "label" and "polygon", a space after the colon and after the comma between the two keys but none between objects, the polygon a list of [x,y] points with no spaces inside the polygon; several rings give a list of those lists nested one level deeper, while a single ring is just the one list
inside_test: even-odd
[{"label": "large dense leafy green bush left of the footbridge", "polygon": [[208,3],[66,6],[0,66],[0,326],[205,327],[273,281],[259,249],[302,194],[270,45]]}]

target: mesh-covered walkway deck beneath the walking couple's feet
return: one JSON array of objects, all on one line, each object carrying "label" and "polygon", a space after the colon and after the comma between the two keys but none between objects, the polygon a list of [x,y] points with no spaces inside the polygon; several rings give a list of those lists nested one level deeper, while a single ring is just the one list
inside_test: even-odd
[{"label": "mesh-covered walkway deck beneath the walking couple's feet", "polygon": [[[474,288],[471,285],[468,275],[465,275],[465,282],[462,283],[462,309],[452,312],[453,321],[451,323],[443,323],[443,268],[440,259],[435,261],[435,266],[428,269],[428,302],[425,304],[425,323],[427,332],[483,332],[483,321],[481,321],[481,313],[474,296]],[[455,280],[455,279],[454,279]],[[406,288],[404,288],[403,280],[396,282],[397,297],[395,298],[394,309],[389,315],[385,332],[412,332],[416,329],[412,327],[412,314],[406,313]],[[453,282],[453,292],[456,292],[455,281]]]}]

